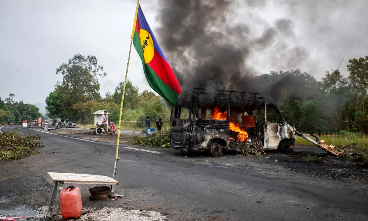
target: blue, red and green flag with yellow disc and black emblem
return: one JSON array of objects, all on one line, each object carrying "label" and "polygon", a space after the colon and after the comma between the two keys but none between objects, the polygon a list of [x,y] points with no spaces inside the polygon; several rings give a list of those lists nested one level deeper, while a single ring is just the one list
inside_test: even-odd
[{"label": "blue, red and green flag with yellow disc and black emblem", "polygon": [[153,35],[139,2],[135,12],[132,40],[142,60],[149,86],[170,105],[175,106],[181,93],[180,84]]}]

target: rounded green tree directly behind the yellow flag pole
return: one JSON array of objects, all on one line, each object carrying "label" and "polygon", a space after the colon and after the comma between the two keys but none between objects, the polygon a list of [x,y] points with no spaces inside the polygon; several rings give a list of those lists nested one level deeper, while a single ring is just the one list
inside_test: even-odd
[{"label": "rounded green tree directly behind the yellow flag pole", "polygon": [[[119,84],[115,88],[115,92],[113,94],[113,100],[115,104],[121,104],[121,97],[123,96],[123,88],[124,82],[119,82]],[[124,108],[135,109],[137,108],[137,97],[138,97],[138,87],[134,86],[130,80],[127,80],[127,85],[125,87],[124,94]]]}]

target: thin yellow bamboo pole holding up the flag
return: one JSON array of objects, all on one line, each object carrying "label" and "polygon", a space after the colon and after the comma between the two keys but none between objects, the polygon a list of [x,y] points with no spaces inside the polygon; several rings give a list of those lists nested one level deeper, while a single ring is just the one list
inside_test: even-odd
[{"label": "thin yellow bamboo pole holding up the flag", "polygon": [[[131,50],[132,50],[132,43],[133,43],[133,36],[134,36],[134,31],[135,31],[135,24],[137,22],[138,7],[139,7],[139,0],[137,0],[137,8],[135,10],[133,31],[132,31],[132,36],[131,36],[131,39],[130,39],[130,48],[129,48],[129,55],[128,55],[127,71],[125,72],[123,95],[121,96],[120,116],[119,116],[119,126],[118,126],[118,129],[117,129],[116,156],[115,156],[113,179],[115,179],[115,177],[116,177],[117,162],[120,159],[120,157],[119,157],[119,140],[120,140],[121,113],[123,112],[123,102],[124,102],[124,95],[125,95],[125,86],[127,85],[127,77],[128,77],[130,53],[131,53]],[[112,197],[113,196],[121,196],[121,195],[118,195],[118,194],[114,194],[114,192],[115,192],[115,185],[111,185],[110,196],[112,196]]]}]

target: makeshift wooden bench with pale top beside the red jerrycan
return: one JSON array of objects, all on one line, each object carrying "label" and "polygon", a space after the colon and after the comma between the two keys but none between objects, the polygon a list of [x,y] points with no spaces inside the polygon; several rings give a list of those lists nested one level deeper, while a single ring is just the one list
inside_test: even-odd
[{"label": "makeshift wooden bench with pale top beside the red jerrycan", "polygon": [[119,185],[119,182],[108,176],[99,176],[79,173],[54,173],[47,172],[54,181],[54,187],[50,198],[49,211],[52,215],[59,210],[59,192],[64,184],[98,184],[98,185]]}]

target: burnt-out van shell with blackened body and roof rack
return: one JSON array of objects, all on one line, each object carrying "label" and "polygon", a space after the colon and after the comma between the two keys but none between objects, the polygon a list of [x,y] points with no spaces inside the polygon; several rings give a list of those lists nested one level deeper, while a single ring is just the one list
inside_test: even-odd
[{"label": "burnt-out van shell with blackened body and roof rack", "polygon": [[[197,89],[197,88],[195,88]],[[203,90],[203,89],[202,89]],[[286,149],[295,147],[294,141],[296,134],[289,124],[286,123],[276,105],[266,103],[257,94],[252,94],[252,97],[247,102],[231,101],[231,93],[245,93],[236,91],[219,91],[219,98],[222,99],[223,111],[227,112],[226,120],[205,119],[205,107],[200,107],[198,95],[201,92],[193,93],[192,105],[189,107],[190,113],[188,118],[181,119],[182,107],[177,105],[171,110],[171,127],[170,127],[170,142],[171,147],[181,149],[183,151],[204,151],[209,150],[213,143],[218,143],[224,150],[233,150],[230,146],[230,137],[236,139],[237,132],[230,131],[230,114],[231,110],[239,113],[242,109],[247,112],[247,115],[252,117],[244,117],[243,128],[247,131],[248,136],[252,140],[256,140],[263,149],[277,149],[281,145]],[[226,94],[227,93],[227,94]],[[217,106],[217,105],[208,105]],[[199,110],[201,109],[201,113]],[[236,110],[238,109],[238,110]],[[270,114],[274,114],[274,122],[267,122],[267,109]],[[256,115],[252,110],[256,110]],[[263,110],[263,112],[262,112]],[[278,119],[276,117],[278,116]],[[251,119],[247,122],[247,119]],[[242,117],[243,120],[243,117]],[[252,122],[253,120],[253,122]],[[276,122],[279,120],[279,122]]]}]

